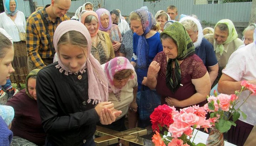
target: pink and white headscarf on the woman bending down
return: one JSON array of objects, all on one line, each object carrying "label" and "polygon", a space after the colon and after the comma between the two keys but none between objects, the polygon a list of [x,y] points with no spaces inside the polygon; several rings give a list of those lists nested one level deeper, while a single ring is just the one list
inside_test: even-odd
[{"label": "pink and white headscarf on the woman bending down", "polygon": [[[124,69],[133,70],[135,74],[133,65],[130,64],[130,61],[125,57],[116,57],[111,59],[106,63],[104,68],[105,75],[108,79],[108,92],[113,92],[119,101],[120,101],[120,92],[122,88],[116,88],[114,86],[114,75],[116,74],[116,72]],[[134,78],[134,74],[132,75],[132,77],[130,77],[129,80],[132,80]]]}]

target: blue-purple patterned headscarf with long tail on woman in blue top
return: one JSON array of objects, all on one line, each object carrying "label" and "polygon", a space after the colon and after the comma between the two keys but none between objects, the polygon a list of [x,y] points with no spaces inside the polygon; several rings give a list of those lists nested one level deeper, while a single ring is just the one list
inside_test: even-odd
[{"label": "blue-purple patterned headscarf with long tail on woman in blue top", "polygon": [[145,35],[149,33],[152,26],[156,24],[153,15],[144,9],[138,9],[136,12],[142,22],[143,35],[139,37],[138,45],[137,45],[137,67],[138,68],[147,68],[148,64],[148,52],[149,45],[146,42]]}]

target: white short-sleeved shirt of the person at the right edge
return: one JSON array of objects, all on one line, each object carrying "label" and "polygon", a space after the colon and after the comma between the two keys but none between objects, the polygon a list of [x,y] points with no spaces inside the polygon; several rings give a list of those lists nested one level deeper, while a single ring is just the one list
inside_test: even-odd
[{"label": "white short-sleeved shirt of the person at the right edge", "polygon": [[[248,44],[231,54],[228,64],[226,68],[222,70],[222,73],[232,77],[236,81],[255,80],[256,44]],[[238,99],[240,101],[238,106],[240,106],[248,95],[248,90],[241,93]],[[251,125],[256,125],[256,96],[250,96],[240,109],[247,115],[247,119],[244,120],[242,116],[240,116],[239,120]]]}]

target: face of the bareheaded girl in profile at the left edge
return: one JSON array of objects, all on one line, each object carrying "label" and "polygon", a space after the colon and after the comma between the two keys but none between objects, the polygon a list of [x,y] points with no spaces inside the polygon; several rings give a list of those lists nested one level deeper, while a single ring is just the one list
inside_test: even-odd
[{"label": "face of the bareheaded girl in profile at the left edge", "polygon": [[4,58],[0,59],[0,85],[5,85],[6,80],[10,78],[10,74],[14,72],[14,68],[11,65],[14,59],[14,49],[7,48],[4,51],[7,51],[7,53]]}]

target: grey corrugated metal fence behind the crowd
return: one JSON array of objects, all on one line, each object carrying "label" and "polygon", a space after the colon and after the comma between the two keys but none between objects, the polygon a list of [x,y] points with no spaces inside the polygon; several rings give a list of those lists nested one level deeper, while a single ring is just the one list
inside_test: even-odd
[{"label": "grey corrugated metal fence behind the crowd", "polygon": [[[5,0],[3,0],[5,2]],[[26,17],[30,16],[33,7],[32,0],[17,0],[17,10],[22,11]],[[37,5],[45,6],[51,0],[33,0]],[[201,21],[216,23],[227,18],[234,22],[249,22],[252,2],[236,2],[225,4],[204,4],[194,5],[194,0],[156,0],[144,2],[144,0],[77,0],[72,1],[69,12],[76,9],[85,2],[94,4],[94,10],[105,8],[109,11],[113,9],[121,10],[123,16],[129,16],[130,12],[147,6],[149,11],[155,15],[158,10],[166,11],[167,6],[175,5],[178,13],[191,15],[195,14]]]}]

